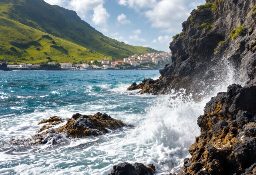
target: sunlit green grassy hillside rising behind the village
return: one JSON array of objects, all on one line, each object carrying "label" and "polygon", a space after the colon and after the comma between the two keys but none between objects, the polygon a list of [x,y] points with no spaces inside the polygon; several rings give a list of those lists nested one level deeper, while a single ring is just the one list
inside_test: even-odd
[{"label": "sunlit green grassy hillside rising behind the village", "polygon": [[0,0],[0,60],[40,63],[123,59],[158,52],[104,36],[76,12],[43,0]]}]

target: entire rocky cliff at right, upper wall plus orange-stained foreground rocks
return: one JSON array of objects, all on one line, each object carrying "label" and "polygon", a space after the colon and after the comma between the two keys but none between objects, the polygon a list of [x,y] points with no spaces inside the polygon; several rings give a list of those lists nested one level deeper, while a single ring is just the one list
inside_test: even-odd
[{"label": "entire rocky cliff at right, upper wall plus orange-stained foreground rocks", "polygon": [[144,79],[127,90],[165,94],[184,88],[198,98],[234,70],[246,85],[232,84],[206,104],[198,117],[201,134],[178,175],[255,175],[256,1],[207,0],[182,26],[170,43],[172,62],[159,79]]}]

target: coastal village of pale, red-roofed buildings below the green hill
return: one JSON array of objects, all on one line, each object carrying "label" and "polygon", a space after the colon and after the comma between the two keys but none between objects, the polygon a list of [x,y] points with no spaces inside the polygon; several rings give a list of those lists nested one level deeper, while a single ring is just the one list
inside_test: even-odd
[{"label": "coastal village of pale, red-roofed buildings below the green hill", "polygon": [[[124,58],[123,61],[110,60],[104,58],[101,60],[90,60],[85,62],[80,62],[80,64],[75,63],[54,63],[48,62],[41,64],[15,64],[7,65],[7,68],[11,70],[27,70],[27,69],[40,69],[41,67],[56,67],[63,70],[118,70],[118,69],[155,69],[167,64],[171,60],[171,52],[163,53],[145,53],[141,55],[132,55],[128,58]],[[2,62],[0,62],[2,64]]]}]

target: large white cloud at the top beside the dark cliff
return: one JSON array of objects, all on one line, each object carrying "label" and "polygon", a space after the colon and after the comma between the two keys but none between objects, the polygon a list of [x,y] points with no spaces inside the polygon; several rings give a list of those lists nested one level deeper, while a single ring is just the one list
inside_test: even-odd
[{"label": "large white cloud at the top beside the dark cliff", "polygon": [[151,22],[151,27],[160,28],[164,32],[176,33],[181,31],[181,23],[190,12],[204,0],[118,0],[120,5],[134,8],[143,12]]}]

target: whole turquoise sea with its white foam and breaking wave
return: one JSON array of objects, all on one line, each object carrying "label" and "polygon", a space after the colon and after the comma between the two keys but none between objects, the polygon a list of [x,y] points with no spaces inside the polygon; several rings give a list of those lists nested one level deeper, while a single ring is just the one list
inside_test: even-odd
[{"label": "whole turquoise sea with its white foam and breaking wave", "polygon": [[[234,82],[229,73],[216,92]],[[184,90],[160,96],[126,91],[159,76],[157,70],[0,71],[0,145],[30,138],[42,126],[37,123],[53,115],[101,112],[135,126],[62,145],[0,146],[0,174],[107,175],[120,162],[153,163],[158,174],[179,171],[210,96],[194,102]]]}]

